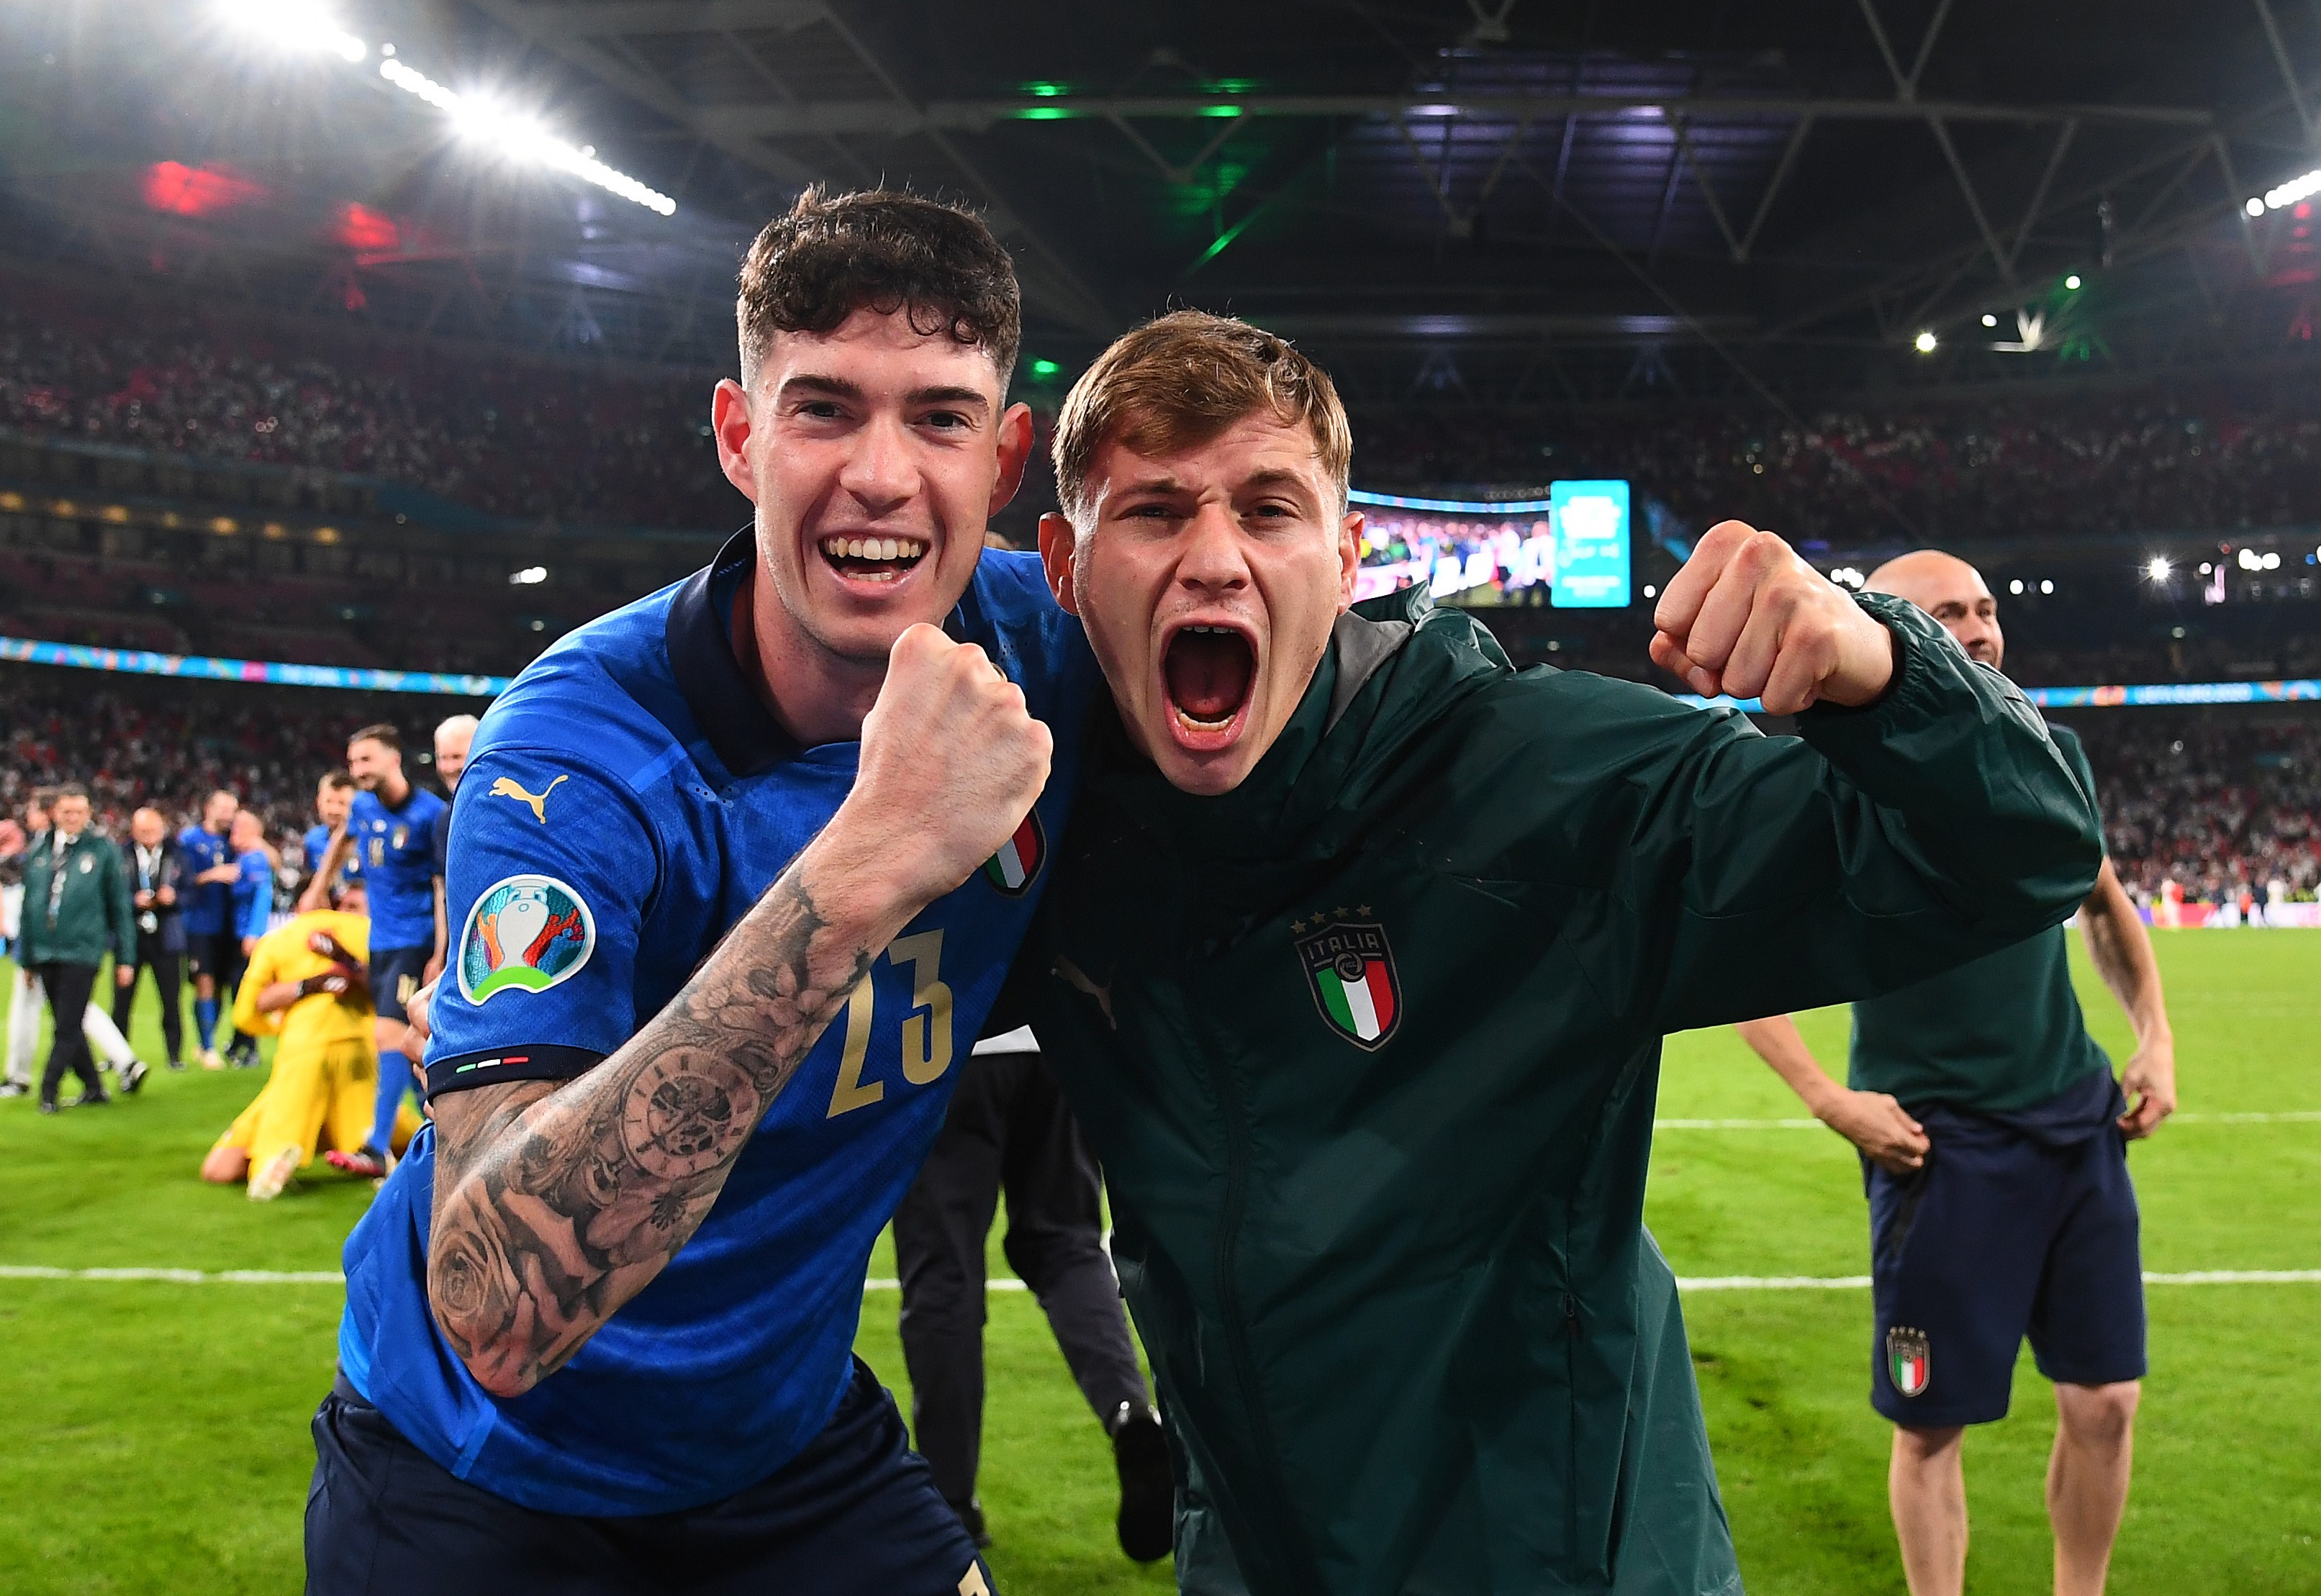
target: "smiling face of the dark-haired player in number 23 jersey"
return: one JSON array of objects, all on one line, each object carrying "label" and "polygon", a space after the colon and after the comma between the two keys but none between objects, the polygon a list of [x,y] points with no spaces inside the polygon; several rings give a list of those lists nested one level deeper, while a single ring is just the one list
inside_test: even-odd
[{"label": "smiling face of the dark-haired player in number 23 jersey", "polygon": [[966,592],[1024,476],[1031,411],[1003,406],[982,346],[859,309],[826,334],[775,332],[747,390],[717,385],[715,434],[757,506],[768,675],[794,652],[884,670],[908,626],[942,624]]}]

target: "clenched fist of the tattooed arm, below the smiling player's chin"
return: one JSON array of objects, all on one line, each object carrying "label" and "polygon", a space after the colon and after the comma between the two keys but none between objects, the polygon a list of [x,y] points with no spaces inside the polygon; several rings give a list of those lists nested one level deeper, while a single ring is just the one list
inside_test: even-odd
[{"label": "clenched fist of the tattooed arm, below the smiling player's chin", "polygon": [[854,791],[833,826],[875,837],[896,888],[933,902],[1024,824],[1051,752],[1024,689],[989,654],[912,626],[887,656]]}]

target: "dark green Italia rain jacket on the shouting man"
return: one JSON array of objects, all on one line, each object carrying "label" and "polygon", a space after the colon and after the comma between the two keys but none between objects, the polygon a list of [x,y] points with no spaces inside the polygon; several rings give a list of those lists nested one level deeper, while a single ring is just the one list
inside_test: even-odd
[{"label": "dark green Italia rain jacket on the shouting man", "polygon": [[1919,981],[2087,898],[2040,717],[1919,610],[1801,738],[1342,617],[1251,777],[1098,708],[1017,1002],[1105,1165],[1186,1591],[1738,1591],[1643,1229],[1660,1037]]}]

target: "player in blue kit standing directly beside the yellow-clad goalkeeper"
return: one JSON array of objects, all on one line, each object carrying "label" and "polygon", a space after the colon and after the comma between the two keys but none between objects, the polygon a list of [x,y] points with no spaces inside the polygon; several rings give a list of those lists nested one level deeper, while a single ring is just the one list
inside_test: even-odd
[{"label": "player in blue kit standing directly beside the yellow-clad goalkeeper", "polygon": [[353,805],[339,849],[323,856],[325,875],[339,851],[362,865],[371,902],[371,1002],[378,1004],[378,1116],[371,1139],[357,1153],[332,1151],[330,1162],[348,1174],[378,1178],[388,1171],[395,1116],[411,1090],[404,1055],[404,1004],[425,979],[434,956],[434,824],[443,800],[404,775],[404,738],[395,726],[364,726],[346,740],[346,770],[355,777]]}]

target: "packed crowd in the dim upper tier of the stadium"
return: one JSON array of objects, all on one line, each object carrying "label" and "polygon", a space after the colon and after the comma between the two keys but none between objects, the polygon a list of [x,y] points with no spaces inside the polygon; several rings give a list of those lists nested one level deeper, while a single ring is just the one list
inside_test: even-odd
[{"label": "packed crowd in the dim upper tier of the stadium", "polygon": [[[132,325],[9,283],[0,427],[232,462],[320,466],[513,517],[726,527],[710,378],[462,355],[425,341],[220,322]],[[1919,541],[2286,527],[2321,501],[2307,378],[1896,399],[1806,413],[1395,408],[1355,415],[1355,480],[1523,485],[1613,476],[1678,520],[1743,515],[1803,541],[1896,522]]]}]

